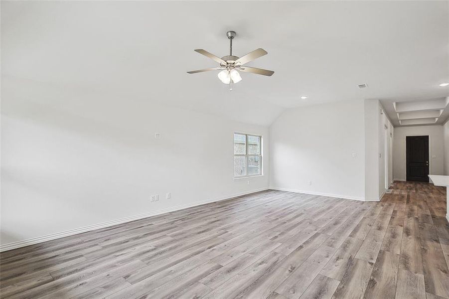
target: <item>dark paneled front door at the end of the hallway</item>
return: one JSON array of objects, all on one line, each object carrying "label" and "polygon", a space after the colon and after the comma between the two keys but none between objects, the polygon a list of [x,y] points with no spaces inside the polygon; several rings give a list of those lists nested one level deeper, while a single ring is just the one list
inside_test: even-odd
[{"label": "dark paneled front door at the end of the hallway", "polygon": [[429,136],[407,136],[407,180],[429,182]]}]

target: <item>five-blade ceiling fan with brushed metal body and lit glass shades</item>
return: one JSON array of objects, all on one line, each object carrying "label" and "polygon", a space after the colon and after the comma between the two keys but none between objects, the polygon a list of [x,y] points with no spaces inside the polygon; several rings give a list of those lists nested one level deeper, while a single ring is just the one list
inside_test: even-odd
[{"label": "five-blade ceiling fan with brushed metal body and lit glass shades", "polygon": [[252,52],[249,52],[245,56],[238,57],[232,55],[232,40],[234,39],[236,33],[235,31],[228,31],[226,32],[226,36],[229,38],[229,55],[223,56],[221,58],[218,58],[217,56],[207,52],[204,49],[196,49],[195,52],[198,52],[200,54],[203,54],[204,56],[209,57],[212,60],[215,60],[216,62],[220,63],[219,67],[212,67],[202,70],[196,70],[196,71],[190,71],[187,72],[189,74],[195,74],[195,73],[201,73],[201,72],[208,72],[208,71],[214,71],[214,70],[222,70],[218,73],[218,78],[223,82],[224,84],[229,84],[229,90],[232,90],[232,84],[240,82],[242,80],[242,77],[240,76],[238,71],[241,72],[247,72],[247,73],[254,73],[264,76],[271,76],[275,72],[264,70],[260,68],[255,67],[249,67],[249,66],[243,66],[244,64],[253,61],[254,59],[257,59],[259,57],[262,57],[264,55],[267,55],[267,51],[265,51],[262,48],[259,48],[257,50],[254,50]]}]

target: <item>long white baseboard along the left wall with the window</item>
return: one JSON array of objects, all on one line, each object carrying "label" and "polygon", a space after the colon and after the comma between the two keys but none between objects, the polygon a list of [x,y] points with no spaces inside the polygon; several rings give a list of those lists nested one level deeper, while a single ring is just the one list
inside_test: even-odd
[{"label": "long white baseboard along the left wall with the window", "polygon": [[0,245],[0,252],[19,248],[19,247],[24,247],[24,246],[28,246],[28,245],[38,244],[38,243],[42,243],[42,242],[46,242],[46,241],[50,241],[50,240],[54,240],[54,239],[59,239],[62,237],[76,235],[76,234],[80,234],[80,233],[84,233],[84,232],[88,232],[91,230],[104,228],[104,227],[108,227],[108,226],[112,226],[112,225],[116,225],[116,224],[122,224],[125,222],[139,220],[142,218],[147,218],[147,217],[165,214],[165,213],[169,213],[169,212],[174,212],[174,211],[178,211],[178,210],[182,210],[182,209],[186,209],[186,208],[191,208],[191,207],[195,207],[195,206],[199,206],[199,205],[203,205],[203,204],[207,204],[207,203],[212,203],[212,202],[231,199],[231,198],[248,195],[248,194],[252,194],[252,193],[256,193],[256,192],[261,192],[261,191],[265,191],[268,189],[269,188],[263,188],[263,189],[233,194],[233,195],[229,195],[229,196],[223,196],[223,197],[218,197],[218,198],[213,198],[213,199],[196,201],[196,202],[185,204],[185,205],[179,205],[179,206],[166,208],[166,209],[162,209],[162,210],[158,210],[158,211],[147,212],[147,213],[143,213],[143,214],[139,214],[139,215],[135,215],[135,216],[130,216],[130,217],[125,217],[125,218],[121,218],[121,219],[117,219],[117,220],[102,222],[102,223],[98,223],[98,224],[94,224],[94,225],[88,225],[88,226],[84,226],[84,227],[80,227],[80,228],[66,230],[66,231],[59,232],[59,233],[49,234],[49,235],[42,236],[42,237],[36,237],[36,238],[16,241],[16,242],[8,243],[8,244],[3,244],[3,245]]}]

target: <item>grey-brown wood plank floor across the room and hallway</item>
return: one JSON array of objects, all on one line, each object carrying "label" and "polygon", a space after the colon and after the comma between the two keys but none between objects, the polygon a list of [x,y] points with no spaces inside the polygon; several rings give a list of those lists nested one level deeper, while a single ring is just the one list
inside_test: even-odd
[{"label": "grey-brown wood plank floor across the room and hallway", "polygon": [[1,298],[449,299],[446,190],[264,191],[1,253]]}]

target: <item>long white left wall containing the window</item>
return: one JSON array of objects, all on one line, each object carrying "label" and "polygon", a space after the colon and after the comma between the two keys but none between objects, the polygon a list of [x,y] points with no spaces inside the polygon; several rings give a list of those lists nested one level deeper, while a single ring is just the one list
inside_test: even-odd
[{"label": "long white left wall containing the window", "polygon": [[[1,244],[268,188],[268,128],[75,90],[2,82]],[[234,131],[266,175],[234,180]]]}]

